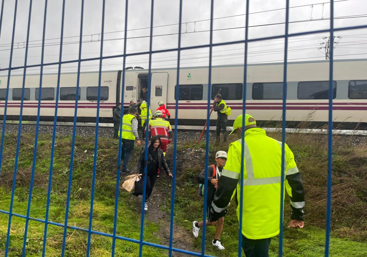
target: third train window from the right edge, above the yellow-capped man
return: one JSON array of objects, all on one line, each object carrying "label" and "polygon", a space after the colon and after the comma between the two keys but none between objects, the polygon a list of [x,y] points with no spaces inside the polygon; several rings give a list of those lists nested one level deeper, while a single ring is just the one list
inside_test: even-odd
[{"label": "third train window from the right edge, above the yellow-capped man", "polygon": [[252,99],[283,99],[283,82],[266,82],[252,84]]}]

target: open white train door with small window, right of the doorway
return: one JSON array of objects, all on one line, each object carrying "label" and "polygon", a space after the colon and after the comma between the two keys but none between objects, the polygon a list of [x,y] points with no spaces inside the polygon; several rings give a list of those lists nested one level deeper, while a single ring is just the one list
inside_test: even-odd
[{"label": "open white train door with small window, right of the doorway", "polygon": [[154,115],[156,109],[159,107],[158,102],[163,101],[167,105],[167,72],[152,73],[152,86],[150,87],[150,108]]}]

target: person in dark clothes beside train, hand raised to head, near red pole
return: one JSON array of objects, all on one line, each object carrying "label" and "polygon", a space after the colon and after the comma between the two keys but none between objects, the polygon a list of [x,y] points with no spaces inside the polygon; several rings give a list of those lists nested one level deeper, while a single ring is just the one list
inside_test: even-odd
[{"label": "person in dark clothes beside train, hand raised to head, near red pole", "polygon": [[217,138],[215,140],[215,144],[219,144],[221,142],[221,132],[223,134],[223,141],[227,141],[227,122],[228,116],[230,115],[230,107],[227,107],[225,101],[221,94],[217,94],[214,98],[214,112],[218,113],[217,118]]}]

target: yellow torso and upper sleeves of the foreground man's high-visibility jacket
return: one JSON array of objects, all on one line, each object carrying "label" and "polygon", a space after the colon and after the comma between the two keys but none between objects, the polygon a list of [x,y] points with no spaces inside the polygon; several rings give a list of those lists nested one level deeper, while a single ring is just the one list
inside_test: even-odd
[{"label": "yellow torso and upper sleeves of the foreground man's high-visibility jacket", "polygon": [[[222,176],[239,179],[238,201],[243,191],[242,234],[249,239],[270,238],[279,234],[281,142],[266,136],[265,130],[258,127],[245,131],[244,142],[243,178],[240,178],[241,139],[229,145]],[[291,196],[285,176],[299,171],[287,144],[284,172],[285,188]],[[240,188],[241,179],[243,188]],[[237,217],[240,217],[240,204],[237,206]]]}]

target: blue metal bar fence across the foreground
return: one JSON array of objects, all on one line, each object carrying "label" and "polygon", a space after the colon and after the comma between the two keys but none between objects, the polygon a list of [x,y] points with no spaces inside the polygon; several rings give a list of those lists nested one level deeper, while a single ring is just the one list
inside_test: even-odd
[{"label": "blue metal bar fence across the foreground", "polygon": [[[0,16],[0,36],[1,36],[1,29],[2,29],[2,21],[3,21],[3,10],[4,10],[4,2],[2,0],[1,3],[1,16]],[[128,0],[126,0],[125,5],[125,28],[124,28],[124,52],[123,54],[118,55],[110,55],[110,56],[103,56],[103,32],[104,32],[104,20],[105,20],[105,0],[103,0],[103,8],[102,8],[102,32],[101,32],[101,48],[100,48],[100,56],[96,58],[81,58],[81,47],[82,47],[82,34],[83,34],[83,14],[84,14],[84,0],[81,1],[81,21],[80,21],[80,39],[79,39],[79,57],[76,60],[70,61],[62,61],[62,47],[63,47],[63,29],[64,29],[64,21],[65,21],[65,0],[63,0],[62,5],[62,22],[61,22],[61,39],[60,39],[60,51],[59,51],[59,61],[58,62],[51,62],[51,63],[44,63],[44,47],[45,47],[45,30],[46,30],[46,17],[47,17],[47,0],[45,0],[45,10],[44,10],[44,21],[43,21],[43,39],[42,39],[42,54],[41,54],[41,62],[40,64],[36,65],[28,65],[27,64],[27,57],[28,57],[28,47],[29,47],[29,33],[30,33],[30,19],[32,13],[32,0],[29,1],[29,16],[28,16],[28,29],[27,29],[27,40],[26,40],[26,48],[25,48],[25,62],[24,66],[17,66],[12,67],[12,56],[14,50],[14,34],[15,34],[15,23],[17,19],[17,7],[18,7],[18,0],[15,0],[15,8],[14,8],[14,22],[12,28],[12,39],[11,39],[11,49],[10,49],[10,61],[9,61],[9,68],[5,69],[8,70],[8,77],[11,75],[12,70],[23,69],[23,84],[22,84],[22,100],[21,100],[21,111],[19,117],[19,127],[18,127],[18,137],[17,137],[17,150],[15,156],[15,166],[14,166],[14,175],[13,175],[13,183],[12,183],[12,190],[11,190],[11,201],[10,201],[10,209],[9,211],[0,210],[0,213],[8,214],[8,230],[7,230],[7,238],[6,238],[6,249],[5,249],[5,256],[8,256],[9,251],[9,242],[10,242],[10,227],[11,227],[11,218],[12,216],[25,218],[25,232],[23,238],[23,251],[22,256],[26,254],[26,242],[27,242],[27,231],[28,231],[28,224],[29,220],[37,221],[44,223],[44,237],[43,237],[43,250],[42,256],[45,256],[46,250],[46,241],[47,241],[47,228],[48,225],[54,225],[58,227],[63,227],[63,240],[62,240],[62,256],[65,255],[65,244],[66,244],[66,231],[67,229],[75,229],[78,231],[83,231],[88,233],[88,243],[87,243],[87,256],[90,255],[90,248],[91,248],[91,235],[103,235],[112,238],[112,256],[115,256],[115,245],[116,239],[119,240],[126,240],[129,242],[134,242],[139,244],[139,256],[142,256],[142,247],[145,246],[153,246],[158,247],[160,249],[166,249],[169,251],[169,256],[172,256],[172,251],[186,253],[192,256],[209,256],[205,254],[205,237],[206,237],[206,224],[204,222],[203,225],[203,236],[202,236],[202,248],[201,253],[196,253],[192,251],[187,251],[183,249],[177,249],[172,247],[172,237],[173,237],[173,218],[174,218],[174,198],[175,198],[175,170],[177,167],[176,157],[177,157],[177,130],[174,130],[174,155],[173,155],[173,180],[172,180],[172,197],[171,197],[171,220],[170,220],[170,240],[169,246],[159,245],[155,243],[145,242],[143,240],[143,231],[144,231],[144,218],[145,218],[145,211],[144,211],[144,202],[145,202],[145,191],[146,187],[144,187],[143,192],[143,200],[142,200],[142,215],[141,215],[141,228],[140,228],[140,239],[131,239],[126,238],[123,236],[116,235],[116,227],[117,227],[117,209],[118,209],[118,201],[119,201],[119,184],[120,184],[120,164],[121,160],[118,159],[118,169],[117,169],[117,180],[116,180],[116,198],[115,198],[115,214],[114,214],[114,223],[113,223],[113,234],[104,233],[101,231],[95,231],[92,229],[93,224],[93,203],[94,203],[94,189],[95,189],[95,174],[96,174],[96,165],[97,165],[97,146],[98,146],[98,123],[99,123],[99,104],[100,104],[100,97],[101,97],[101,71],[102,71],[102,62],[104,59],[109,58],[117,58],[123,57],[123,73],[122,73],[122,87],[121,87],[121,103],[124,102],[124,83],[125,83],[125,64],[126,64],[126,57],[133,56],[133,55],[144,55],[149,54],[149,79],[148,79],[148,111],[147,115],[149,115],[149,106],[150,106],[150,86],[151,86],[151,68],[152,68],[152,54],[154,53],[165,53],[165,52],[172,52],[177,51],[178,61],[177,61],[177,85],[179,85],[179,68],[180,68],[180,55],[182,50],[188,49],[195,49],[195,48],[204,48],[209,47],[209,76],[208,76],[208,103],[207,103],[207,123],[209,124],[209,116],[210,116],[210,108],[211,108],[211,70],[212,70],[212,47],[215,46],[224,46],[230,44],[244,44],[244,87],[243,90],[243,115],[246,112],[246,80],[247,80],[247,48],[249,42],[256,42],[261,40],[269,40],[269,39],[283,39],[284,38],[284,72],[283,72],[283,117],[282,117],[282,172],[281,172],[281,204],[280,204],[280,235],[279,235],[279,256],[283,254],[283,193],[284,193],[284,142],[285,142],[285,126],[286,126],[286,98],[287,98],[287,49],[288,49],[288,38],[295,37],[300,35],[309,35],[313,33],[321,33],[321,32],[329,32],[330,33],[330,40],[331,46],[333,46],[333,35],[334,31],[342,31],[342,30],[349,30],[349,29],[362,29],[367,28],[367,25],[360,25],[360,26],[349,26],[343,28],[334,28],[333,23],[333,11],[334,11],[334,3],[333,1],[330,2],[330,28],[329,29],[322,29],[322,30],[312,30],[312,31],[305,31],[299,33],[288,33],[288,25],[289,25],[289,0],[286,0],[286,17],[285,17],[285,32],[284,35],[279,36],[270,36],[270,37],[262,37],[256,39],[248,39],[248,14],[249,14],[249,4],[250,0],[246,0],[246,30],[245,30],[245,39],[244,40],[237,40],[237,41],[227,41],[223,43],[213,43],[213,12],[214,12],[214,0],[211,0],[211,7],[210,7],[210,43],[204,45],[197,45],[191,47],[181,47],[181,23],[182,23],[182,0],[179,0],[179,33],[178,33],[178,47],[177,48],[170,48],[166,50],[152,50],[152,38],[153,38],[153,11],[154,11],[154,0],[151,1],[151,14],[150,14],[150,44],[149,44],[149,51],[146,52],[139,52],[139,53],[126,53],[126,41],[127,41],[127,17],[128,17]],[[68,64],[68,63],[78,63],[78,71],[77,71],[77,86],[76,86],[76,95],[78,95],[79,90],[79,80],[80,80],[80,66],[81,62],[84,61],[95,61],[99,60],[99,80],[98,80],[98,104],[97,104],[97,113],[96,113],[96,129],[95,129],[95,145],[94,145],[94,162],[93,162],[93,175],[92,175],[92,191],[91,191],[91,205],[90,205],[90,217],[89,217],[89,225],[88,229],[80,228],[75,226],[68,225],[68,215],[69,215],[69,203],[70,203],[70,191],[71,191],[71,183],[72,183],[72,175],[73,175],[73,157],[74,157],[74,149],[75,149],[75,134],[76,134],[76,118],[77,118],[77,106],[78,106],[78,97],[75,100],[75,113],[74,113],[74,123],[73,123],[73,133],[72,133],[72,148],[71,148],[71,155],[70,155],[70,170],[69,170],[69,180],[68,180],[68,191],[67,191],[67,202],[66,202],[66,213],[65,213],[65,222],[64,224],[52,222],[49,220],[49,207],[50,207],[50,192],[51,192],[51,185],[52,185],[52,170],[53,170],[53,160],[54,160],[54,146],[55,146],[55,135],[57,129],[57,112],[58,112],[58,96],[59,96],[59,86],[60,86],[60,75],[61,75],[61,65]],[[45,219],[38,219],[30,217],[30,204],[32,199],[32,189],[33,189],[33,178],[34,178],[34,170],[36,164],[36,153],[37,153],[37,141],[38,141],[38,130],[39,130],[39,121],[40,121],[40,102],[41,102],[41,90],[42,90],[42,79],[40,79],[40,90],[39,90],[39,100],[38,100],[38,108],[37,108],[37,123],[36,123],[36,135],[34,141],[34,153],[33,153],[33,163],[32,163],[32,174],[30,180],[30,189],[29,189],[29,198],[28,198],[28,208],[26,216],[13,213],[13,203],[14,203],[14,192],[15,192],[15,181],[17,178],[17,168],[18,168],[18,159],[19,159],[19,148],[20,148],[20,136],[21,136],[21,125],[22,125],[22,112],[23,112],[23,98],[24,98],[24,91],[25,91],[25,75],[26,69],[30,67],[40,67],[40,77],[42,78],[43,75],[43,68],[44,66],[50,65],[58,65],[58,79],[57,79],[57,93],[56,93],[56,107],[55,107],[55,116],[54,116],[54,125],[53,125],[53,134],[52,134],[52,149],[51,149],[51,159],[50,159],[50,172],[49,172],[49,180],[48,180],[48,193],[47,193],[47,206],[46,206],[46,217]],[[329,74],[329,117],[328,117],[328,180],[327,180],[327,217],[326,217],[326,240],[325,240],[325,256],[329,255],[329,239],[330,239],[330,220],[331,220],[331,162],[332,162],[332,105],[333,105],[333,47],[330,48],[330,74]],[[8,107],[8,92],[9,92],[9,84],[10,79],[7,81],[7,89],[6,89],[6,101],[5,101],[5,108],[4,108],[4,119],[3,119],[3,129],[1,133],[1,147],[0,147],[0,172],[1,172],[1,165],[2,165],[2,158],[3,158],[3,150],[4,150],[4,134],[6,128],[6,114],[7,114],[7,107]],[[178,92],[175,92],[175,127],[178,125]],[[121,117],[123,116],[123,108],[121,108]],[[242,126],[244,127],[245,120],[243,119]],[[146,126],[149,126],[149,119],[147,117]],[[120,128],[122,124],[122,119],[120,120]],[[120,133],[121,133],[120,129]],[[243,131],[244,133],[244,131]],[[148,130],[146,131],[146,138],[148,138]],[[206,138],[209,138],[209,129],[206,131]],[[145,142],[145,148],[148,147],[148,140]],[[209,151],[209,140],[206,141],[206,159],[205,159],[205,173],[206,176],[208,174],[208,151]],[[244,136],[242,137],[242,151],[244,151]],[[119,156],[121,155],[121,138],[119,140]],[[147,159],[148,151],[145,151],[145,159]],[[241,158],[241,177],[243,177],[243,163],[244,159],[243,156]],[[144,185],[146,185],[146,173],[147,167],[144,170]],[[241,187],[243,187],[243,180],[240,180]],[[207,186],[207,180],[205,180],[205,187]],[[204,197],[204,206],[206,206],[206,195],[207,191],[205,191]],[[242,213],[243,209],[243,192],[240,193],[240,213]],[[203,220],[206,220],[206,211],[203,211]],[[241,227],[242,227],[242,217],[240,217],[239,222],[239,247],[238,247],[238,256],[241,256]]]}]

